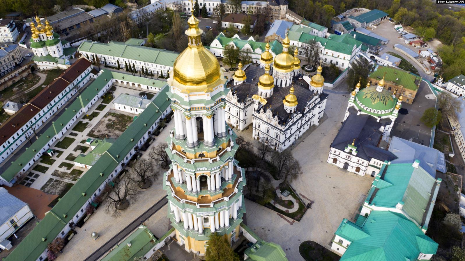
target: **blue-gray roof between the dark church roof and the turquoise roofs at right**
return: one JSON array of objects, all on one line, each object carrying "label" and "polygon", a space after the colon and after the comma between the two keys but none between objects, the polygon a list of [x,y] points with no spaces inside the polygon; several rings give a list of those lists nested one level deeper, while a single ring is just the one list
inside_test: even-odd
[{"label": "blue-gray roof between the dark church roof and the turquoise roofs at right", "polygon": [[432,177],[436,177],[436,170],[446,172],[444,153],[439,150],[394,136],[389,151],[398,157],[392,163],[413,163],[418,159]]}]

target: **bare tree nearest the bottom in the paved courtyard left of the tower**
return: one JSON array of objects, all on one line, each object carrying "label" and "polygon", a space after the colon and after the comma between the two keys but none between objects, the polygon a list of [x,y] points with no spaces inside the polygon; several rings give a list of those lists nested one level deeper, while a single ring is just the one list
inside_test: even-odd
[{"label": "bare tree nearest the bottom in the paved courtyard left of the tower", "polygon": [[121,211],[137,200],[139,192],[139,186],[132,179],[128,176],[122,177],[106,197],[106,212],[113,216],[121,215]]}]

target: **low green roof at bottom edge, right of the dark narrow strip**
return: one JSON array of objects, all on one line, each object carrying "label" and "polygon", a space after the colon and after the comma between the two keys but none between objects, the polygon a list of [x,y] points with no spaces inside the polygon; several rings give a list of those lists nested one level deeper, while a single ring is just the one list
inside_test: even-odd
[{"label": "low green roof at bottom edge, right of the dark narrow strip", "polygon": [[153,233],[146,226],[141,225],[101,261],[132,261],[136,257],[147,254],[157,242]]}]

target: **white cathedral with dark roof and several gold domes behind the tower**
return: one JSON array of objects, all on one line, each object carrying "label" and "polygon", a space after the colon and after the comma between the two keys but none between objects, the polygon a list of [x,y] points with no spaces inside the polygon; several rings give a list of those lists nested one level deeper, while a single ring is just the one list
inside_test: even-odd
[{"label": "white cathedral with dark roof and several gold domes behind the tower", "polygon": [[286,36],[274,59],[266,44],[259,63],[239,63],[226,96],[226,122],[240,131],[252,124],[252,137],[268,140],[275,150],[288,148],[312,125],[319,125],[326,106],[321,66],[306,81],[297,49],[292,56],[289,42]]}]

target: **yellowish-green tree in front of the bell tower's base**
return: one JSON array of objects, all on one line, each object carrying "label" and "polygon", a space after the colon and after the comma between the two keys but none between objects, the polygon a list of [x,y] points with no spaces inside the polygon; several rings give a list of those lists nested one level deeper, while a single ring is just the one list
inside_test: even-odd
[{"label": "yellowish-green tree in front of the bell tower's base", "polygon": [[239,261],[239,255],[231,248],[226,236],[210,235],[205,253],[206,261]]}]

